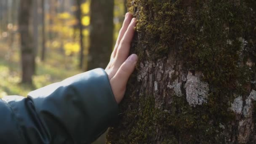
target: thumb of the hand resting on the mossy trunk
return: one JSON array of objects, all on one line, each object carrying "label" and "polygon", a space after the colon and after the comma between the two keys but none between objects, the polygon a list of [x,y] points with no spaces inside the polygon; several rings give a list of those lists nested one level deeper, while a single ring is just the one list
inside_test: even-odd
[{"label": "thumb of the hand resting on the mossy trunk", "polygon": [[138,61],[138,56],[136,54],[132,54],[128,59],[121,65],[118,69],[115,76],[111,79],[113,93],[115,97],[118,99],[117,102],[120,102],[123,99],[123,94],[125,93],[125,88],[127,81],[130,75],[133,73],[136,62]]}]

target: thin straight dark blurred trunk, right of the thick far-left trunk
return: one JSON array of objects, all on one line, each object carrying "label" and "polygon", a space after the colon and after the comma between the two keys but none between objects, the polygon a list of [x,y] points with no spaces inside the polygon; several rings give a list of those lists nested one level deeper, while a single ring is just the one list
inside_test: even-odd
[{"label": "thin straight dark blurred trunk, right of the thick far-left trunk", "polygon": [[45,61],[45,0],[41,1],[42,7],[42,51],[41,51],[41,61]]}]

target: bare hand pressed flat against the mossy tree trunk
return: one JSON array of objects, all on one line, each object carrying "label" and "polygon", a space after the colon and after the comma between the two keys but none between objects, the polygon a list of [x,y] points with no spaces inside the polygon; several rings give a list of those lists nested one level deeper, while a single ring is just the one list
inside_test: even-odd
[{"label": "bare hand pressed flat against the mossy tree trunk", "polygon": [[134,71],[138,60],[136,54],[132,54],[128,57],[135,23],[136,19],[132,19],[131,13],[126,13],[123,27],[119,32],[114,51],[111,54],[110,62],[105,69],[118,104],[123,99],[127,81]]}]

